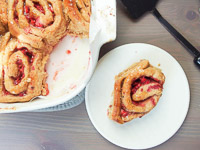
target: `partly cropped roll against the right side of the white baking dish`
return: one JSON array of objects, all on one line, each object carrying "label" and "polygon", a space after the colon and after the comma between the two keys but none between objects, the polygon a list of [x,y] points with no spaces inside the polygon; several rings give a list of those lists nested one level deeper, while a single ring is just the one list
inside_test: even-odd
[{"label": "partly cropped roll against the right side of the white baking dish", "polygon": [[91,15],[90,0],[64,0],[63,5],[65,19],[69,23],[67,33],[88,37]]}]

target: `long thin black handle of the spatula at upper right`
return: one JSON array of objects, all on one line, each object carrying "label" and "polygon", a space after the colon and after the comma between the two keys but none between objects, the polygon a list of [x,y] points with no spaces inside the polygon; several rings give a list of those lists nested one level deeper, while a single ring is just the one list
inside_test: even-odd
[{"label": "long thin black handle of the spatula at upper right", "polygon": [[160,23],[190,52],[194,55],[194,63],[200,68],[200,52],[186,40],[167,20],[165,20],[158,10],[155,8],[152,14],[160,21]]}]

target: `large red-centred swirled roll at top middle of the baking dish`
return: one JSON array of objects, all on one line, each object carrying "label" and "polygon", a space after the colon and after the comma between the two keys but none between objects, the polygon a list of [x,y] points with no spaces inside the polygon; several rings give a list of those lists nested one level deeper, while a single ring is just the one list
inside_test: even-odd
[{"label": "large red-centred swirled roll at top middle of the baking dish", "polygon": [[37,49],[55,46],[66,34],[61,0],[9,0],[8,21],[13,36]]}]

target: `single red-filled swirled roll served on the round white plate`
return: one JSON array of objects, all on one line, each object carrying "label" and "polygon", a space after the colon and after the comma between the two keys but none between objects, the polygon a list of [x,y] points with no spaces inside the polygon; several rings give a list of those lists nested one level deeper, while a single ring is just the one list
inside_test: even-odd
[{"label": "single red-filled swirled roll served on the round white plate", "polygon": [[115,77],[114,98],[108,117],[120,124],[150,112],[162,95],[165,76],[160,69],[141,60]]}]

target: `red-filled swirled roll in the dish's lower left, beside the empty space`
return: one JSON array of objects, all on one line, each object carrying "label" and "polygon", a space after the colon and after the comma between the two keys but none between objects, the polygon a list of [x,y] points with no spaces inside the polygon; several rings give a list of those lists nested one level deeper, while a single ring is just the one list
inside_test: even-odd
[{"label": "red-filled swirled roll in the dish's lower left, beside the empty space", "polygon": [[0,48],[0,102],[25,102],[48,94],[44,70],[48,55],[14,38],[9,41],[9,36]]}]

